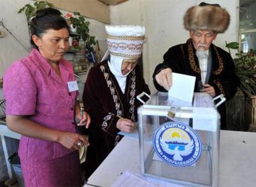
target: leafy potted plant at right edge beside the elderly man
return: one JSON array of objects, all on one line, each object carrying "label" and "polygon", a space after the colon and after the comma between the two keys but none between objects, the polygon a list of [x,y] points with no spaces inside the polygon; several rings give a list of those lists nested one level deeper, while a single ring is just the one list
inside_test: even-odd
[{"label": "leafy potted plant at right edge beside the elderly man", "polygon": [[[227,105],[227,119],[233,122],[232,127],[238,127],[231,130],[245,130],[255,128],[256,124],[256,50],[250,49],[244,53],[239,50],[237,42],[226,43],[229,49],[236,49],[237,54],[234,58],[236,74],[239,76],[243,97],[237,97],[231,105]],[[230,53],[230,50],[229,50]],[[236,107],[234,107],[236,106]],[[234,119],[233,119],[234,118]],[[231,120],[233,119],[233,121]]]}]

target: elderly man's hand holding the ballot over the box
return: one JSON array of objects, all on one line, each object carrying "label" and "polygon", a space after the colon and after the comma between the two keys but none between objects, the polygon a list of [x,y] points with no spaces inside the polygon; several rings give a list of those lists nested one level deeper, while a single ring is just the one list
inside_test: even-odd
[{"label": "elderly man's hand holding the ballot over the box", "polygon": [[172,73],[171,68],[166,68],[161,70],[160,73],[156,74],[156,82],[163,86],[167,91],[173,86]]}]

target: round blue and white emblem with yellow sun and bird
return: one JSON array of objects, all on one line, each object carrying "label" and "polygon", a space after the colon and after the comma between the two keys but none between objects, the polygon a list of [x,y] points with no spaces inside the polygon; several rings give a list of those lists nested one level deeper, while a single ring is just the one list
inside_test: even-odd
[{"label": "round blue and white emblem with yellow sun and bird", "polygon": [[202,141],[189,125],[165,122],[153,137],[156,154],[169,165],[186,167],[194,164],[202,153]]}]

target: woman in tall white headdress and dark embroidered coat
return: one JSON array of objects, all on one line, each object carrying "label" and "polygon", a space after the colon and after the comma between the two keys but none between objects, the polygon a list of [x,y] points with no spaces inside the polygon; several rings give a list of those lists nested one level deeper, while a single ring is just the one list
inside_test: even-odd
[{"label": "woman in tall white headdress and dark embroidered coat", "polygon": [[109,60],[94,66],[85,82],[83,103],[92,118],[85,177],[108,156],[121,140],[119,131],[133,132],[140,102],[136,96],[150,94],[137,61],[142,54],[145,28],[106,26]]}]

